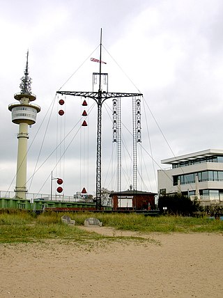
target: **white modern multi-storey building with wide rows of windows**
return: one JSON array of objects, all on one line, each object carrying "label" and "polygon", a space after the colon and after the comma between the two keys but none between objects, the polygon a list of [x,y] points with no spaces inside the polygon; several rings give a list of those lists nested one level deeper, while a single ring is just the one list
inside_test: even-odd
[{"label": "white modern multi-storey building with wide rows of windows", "polygon": [[208,149],[163,159],[171,168],[158,170],[159,194],[181,192],[203,203],[223,205],[223,150]]}]

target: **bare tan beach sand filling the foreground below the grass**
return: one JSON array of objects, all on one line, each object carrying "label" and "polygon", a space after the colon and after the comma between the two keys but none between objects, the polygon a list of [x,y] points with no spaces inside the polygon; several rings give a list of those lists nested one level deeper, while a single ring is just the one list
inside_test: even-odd
[{"label": "bare tan beach sand filling the foreground below the grass", "polygon": [[151,241],[0,245],[0,297],[223,297],[223,235],[85,228]]}]

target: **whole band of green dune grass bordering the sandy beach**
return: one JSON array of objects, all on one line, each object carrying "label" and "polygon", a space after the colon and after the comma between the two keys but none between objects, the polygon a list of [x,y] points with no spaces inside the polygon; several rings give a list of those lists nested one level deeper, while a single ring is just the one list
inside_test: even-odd
[{"label": "whole band of green dune grass bordering the sandy beach", "polygon": [[[141,214],[68,214],[75,219],[75,226],[61,223],[63,214],[44,213],[38,217],[27,212],[10,212],[0,214],[0,243],[39,242],[44,240],[64,240],[79,244],[93,241],[134,240],[134,237],[107,237],[98,233],[88,233],[78,226],[84,224],[88,217],[97,217],[103,226],[118,230],[132,230],[141,233],[192,233],[223,232],[223,221],[207,217],[145,217]],[[138,239],[138,241],[140,241]]]}]

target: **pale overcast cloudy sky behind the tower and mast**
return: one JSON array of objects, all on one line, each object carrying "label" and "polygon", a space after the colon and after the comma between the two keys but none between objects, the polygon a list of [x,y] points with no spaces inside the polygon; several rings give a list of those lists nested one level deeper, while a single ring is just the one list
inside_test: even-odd
[{"label": "pale overcast cloudy sky behind the tower and mast", "polygon": [[[15,189],[16,102],[29,49],[29,76],[41,107],[29,127],[27,188],[35,194],[95,194],[97,107],[56,91],[92,91],[99,64],[108,91],[143,93],[137,189],[157,192],[162,159],[222,149],[223,3],[221,0],[0,0],[0,191]],[[95,87],[94,87],[95,88]],[[66,104],[59,106],[63,98]],[[59,109],[65,110],[59,116]],[[122,190],[132,184],[132,99],[121,99]],[[65,138],[65,140],[64,140]],[[52,179],[53,178],[53,179]],[[102,187],[117,190],[112,100],[102,106]]]}]

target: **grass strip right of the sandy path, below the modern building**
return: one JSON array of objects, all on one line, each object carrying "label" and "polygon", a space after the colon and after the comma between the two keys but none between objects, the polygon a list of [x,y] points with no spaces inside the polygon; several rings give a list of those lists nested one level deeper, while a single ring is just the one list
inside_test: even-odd
[{"label": "grass strip right of the sandy path, below the modern building", "polygon": [[180,216],[160,216],[145,217],[142,214],[95,214],[92,215],[77,213],[70,214],[77,224],[84,223],[87,217],[97,217],[102,221],[103,226],[111,226],[118,230],[132,230],[143,233],[191,233],[191,232],[223,232],[223,221],[209,219],[208,217],[180,217]]}]

